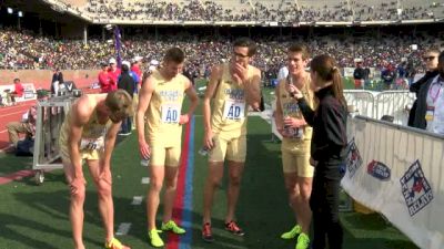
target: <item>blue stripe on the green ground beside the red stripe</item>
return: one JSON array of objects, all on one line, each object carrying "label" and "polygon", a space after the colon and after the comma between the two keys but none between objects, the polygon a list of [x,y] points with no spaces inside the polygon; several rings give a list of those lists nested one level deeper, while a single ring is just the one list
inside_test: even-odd
[{"label": "blue stripe on the green ground beside the red stripe", "polygon": [[179,249],[190,249],[193,238],[192,209],[193,209],[193,175],[194,175],[194,116],[191,118],[190,144],[186,160],[185,194],[183,197],[182,226],[186,234],[181,236]]}]

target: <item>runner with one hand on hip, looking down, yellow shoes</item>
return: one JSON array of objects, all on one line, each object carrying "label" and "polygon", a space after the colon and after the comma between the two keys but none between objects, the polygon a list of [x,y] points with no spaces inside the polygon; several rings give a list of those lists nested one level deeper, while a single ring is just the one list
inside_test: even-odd
[{"label": "runner with one hand on hip, looking down, yellow shoes", "polygon": [[[150,159],[150,189],[147,197],[148,236],[153,247],[163,247],[155,227],[155,215],[160,203],[163,181],[162,230],[178,235],[185,234],[172,220],[179,163],[181,155],[182,125],[186,124],[199,103],[198,94],[190,80],[181,74],[185,55],[178,48],[169,49],[162,66],[142,84],[139,94],[137,127],[140,154]],[[191,104],[188,113],[182,113],[184,95]]]}]

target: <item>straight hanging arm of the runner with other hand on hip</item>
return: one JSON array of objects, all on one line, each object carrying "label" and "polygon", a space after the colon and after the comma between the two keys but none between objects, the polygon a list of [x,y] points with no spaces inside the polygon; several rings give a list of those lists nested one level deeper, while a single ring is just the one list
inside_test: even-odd
[{"label": "straight hanging arm of the runner with other hand on hip", "polygon": [[139,152],[143,158],[150,157],[150,147],[148,146],[145,141],[144,116],[147,108],[150,105],[153,91],[154,91],[154,85],[152,76],[149,76],[144,80],[141,91],[139,93],[139,105],[135,115],[135,127],[138,131],[138,138],[139,138]]}]

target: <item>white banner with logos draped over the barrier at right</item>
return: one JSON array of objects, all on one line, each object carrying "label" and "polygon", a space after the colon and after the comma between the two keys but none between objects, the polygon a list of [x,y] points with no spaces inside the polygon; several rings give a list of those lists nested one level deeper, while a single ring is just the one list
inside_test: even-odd
[{"label": "white banner with logos draped over the barrier at right", "polygon": [[444,137],[349,118],[345,191],[421,248],[444,249]]}]

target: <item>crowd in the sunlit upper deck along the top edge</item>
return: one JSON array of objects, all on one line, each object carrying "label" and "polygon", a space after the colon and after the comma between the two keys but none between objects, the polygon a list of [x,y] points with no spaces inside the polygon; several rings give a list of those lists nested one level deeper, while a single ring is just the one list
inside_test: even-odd
[{"label": "crowd in the sunlit upper deck along the top edge", "polygon": [[[273,4],[274,3],[274,4]],[[152,21],[395,21],[434,19],[444,15],[442,4],[417,4],[414,1],[381,1],[370,4],[355,1],[337,2],[334,6],[304,2],[240,1],[235,6],[218,1],[134,1],[90,0],[82,8],[93,19],[124,19]],[[231,3],[233,4],[233,3]],[[402,11],[398,11],[402,9]]]}]

